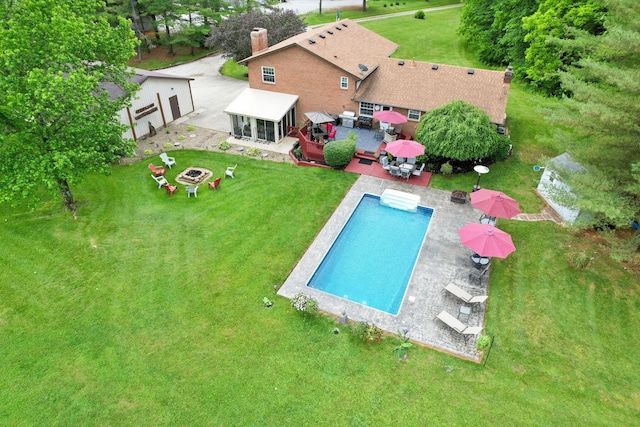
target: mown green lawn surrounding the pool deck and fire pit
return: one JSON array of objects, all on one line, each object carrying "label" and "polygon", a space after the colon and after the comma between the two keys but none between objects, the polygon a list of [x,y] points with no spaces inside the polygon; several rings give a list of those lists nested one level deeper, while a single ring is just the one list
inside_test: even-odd
[{"label": "mown green lawn surrounding the pool deck and fire pit", "polygon": [[[468,57],[453,46],[452,58]],[[561,150],[536,137],[552,131],[537,111],[550,103],[512,88],[514,156],[483,178],[531,212],[542,207],[531,166]],[[303,320],[273,291],[353,175],[172,155],[170,180],[186,166],[221,176],[235,163],[237,178],[170,198],[143,161],[74,186],[77,221],[55,200],[0,210],[1,425],[637,424],[637,273],[589,234],[501,221],[517,251],[494,263],[486,367],[421,347],[399,362],[393,337],[365,345],[346,329],[334,335],[333,319]],[[594,259],[575,270],[568,258],[581,250]]]}]

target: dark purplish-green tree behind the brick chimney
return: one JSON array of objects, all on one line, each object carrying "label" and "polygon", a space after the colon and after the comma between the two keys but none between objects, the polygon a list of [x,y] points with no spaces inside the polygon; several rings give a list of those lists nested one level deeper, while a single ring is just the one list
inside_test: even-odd
[{"label": "dark purplish-green tree behind the brick chimney", "polygon": [[224,56],[239,61],[251,56],[251,31],[265,28],[269,45],[274,45],[296,34],[303,33],[306,25],[291,10],[274,10],[269,13],[247,12],[233,16],[213,28],[207,37],[207,48],[221,48]]}]

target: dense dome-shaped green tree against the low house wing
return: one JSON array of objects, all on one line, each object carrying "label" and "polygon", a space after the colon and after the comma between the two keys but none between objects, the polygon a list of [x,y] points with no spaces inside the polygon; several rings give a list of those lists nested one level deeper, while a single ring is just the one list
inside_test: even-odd
[{"label": "dense dome-shaped green tree against the low house wing", "polygon": [[464,101],[454,101],[425,113],[415,140],[425,146],[427,157],[458,161],[503,159],[507,138],[496,132],[489,116]]}]

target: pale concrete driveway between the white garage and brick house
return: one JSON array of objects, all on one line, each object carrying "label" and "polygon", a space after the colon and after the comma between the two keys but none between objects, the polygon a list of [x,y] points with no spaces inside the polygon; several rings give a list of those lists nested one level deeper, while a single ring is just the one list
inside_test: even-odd
[{"label": "pale concrete driveway between the white garage and brick house", "polygon": [[191,82],[195,111],[180,118],[180,123],[227,133],[231,131],[229,116],[223,111],[240,92],[249,87],[249,82],[220,74],[220,67],[225,61],[222,55],[207,56],[187,64],[158,70],[195,79]]}]

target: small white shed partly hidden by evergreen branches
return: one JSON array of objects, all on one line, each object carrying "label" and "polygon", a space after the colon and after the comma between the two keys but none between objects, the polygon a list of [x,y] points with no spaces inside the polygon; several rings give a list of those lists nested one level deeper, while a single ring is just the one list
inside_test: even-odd
[{"label": "small white shed partly hidden by evergreen branches", "polygon": [[[563,199],[570,200],[571,198],[575,198],[576,195],[571,192],[571,187],[562,181],[558,172],[575,173],[584,170],[579,163],[571,159],[568,153],[563,153],[549,160],[538,183],[538,193],[540,196],[563,220],[569,223],[573,223],[578,215],[580,215],[580,209],[575,206],[566,206],[566,202],[564,202]],[[560,203],[558,201],[559,199],[563,200],[563,203]]]}]

